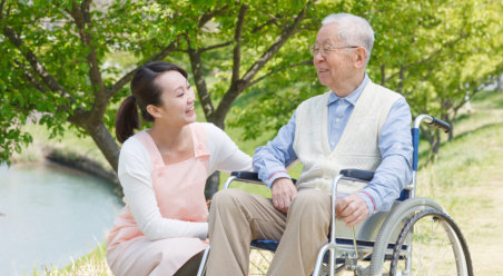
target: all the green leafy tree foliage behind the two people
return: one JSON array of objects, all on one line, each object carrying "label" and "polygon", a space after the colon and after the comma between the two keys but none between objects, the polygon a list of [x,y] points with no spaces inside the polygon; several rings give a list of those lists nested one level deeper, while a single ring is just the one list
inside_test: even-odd
[{"label": "all the green leafy tree foliage behind the two people", "polygon": [[[22,130],[43,125],[89,136],[112,170],[118,103],[135,70],[151,60],[190,72],[204,119],[274,132],[304,99],[325,91],[308,55],[320,20],[362,16],[375,29],[367,72],[403,93],[413,115],[452,122],[466,99],[503,69],[503,3],[426,1],[0,1],[0,160],[32,141]],[[128,65],[115,60],[125,55]],[[228,116],[230,115],[230,116]],[[438,131],[423,129],[436,154]],[[455,134],[455,132],[454,132]],[[453,138],[453,135],[448,137]],[[216,191],[218,177],[207,185]]]}]

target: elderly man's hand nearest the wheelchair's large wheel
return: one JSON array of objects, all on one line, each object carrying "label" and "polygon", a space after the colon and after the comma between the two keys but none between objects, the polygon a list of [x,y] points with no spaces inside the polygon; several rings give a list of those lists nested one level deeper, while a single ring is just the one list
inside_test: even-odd
[{"label": "elderly man's hand nearest the wheelchair's large wheel", "polygon": [[357,194],[347,197],[337,197],[335,213],[348,227],[353,227],[368,217],[368,207]]}]

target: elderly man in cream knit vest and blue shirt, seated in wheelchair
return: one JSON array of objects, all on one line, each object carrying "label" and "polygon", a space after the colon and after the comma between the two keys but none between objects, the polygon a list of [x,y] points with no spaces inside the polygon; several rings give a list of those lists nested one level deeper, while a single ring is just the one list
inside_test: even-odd
[{"label": "elderly man in cream knit vest and blue shirt, seated in wheelchair", "polygon": [[[411,110],[405,99],[365,72],[374,43],[368,22],[353,14],[323,20],[310,47],[318,79],[329,91],[302,102],[274,140],[259,147],[254,169],[273,198],[217,193],[209,215],[207,275],[247,275],[249,243],[279,239],[268,275],[309,275],[327,243],[332,179],[341,169],[375,170],[364,187],[346,187],[338,219],[354,226],[389,209],[411,180]],[[294,185],[285,167],[298,159]]]}]

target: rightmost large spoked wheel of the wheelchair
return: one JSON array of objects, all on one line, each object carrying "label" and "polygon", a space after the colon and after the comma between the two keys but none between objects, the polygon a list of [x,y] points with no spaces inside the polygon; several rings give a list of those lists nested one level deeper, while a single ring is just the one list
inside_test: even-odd
[{"label": "rightmost large spoked wheel of the wheelchair", "polygon": [[404,226],[389,275],[473,275],[466,241],[445,213],[426,209]]}]

